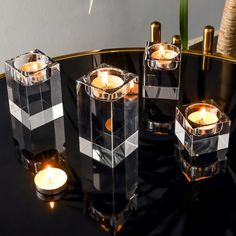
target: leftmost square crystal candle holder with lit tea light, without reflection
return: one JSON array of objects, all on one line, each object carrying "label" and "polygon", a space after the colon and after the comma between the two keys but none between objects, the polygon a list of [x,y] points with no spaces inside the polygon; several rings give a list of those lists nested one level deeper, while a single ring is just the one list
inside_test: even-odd
[{"label": "leftmost square crystal candle holder with lit tea light, without reflection", "polygon": [[29,130],[63,116],[59,64],[35,49],[6,61],[10,113]]}]

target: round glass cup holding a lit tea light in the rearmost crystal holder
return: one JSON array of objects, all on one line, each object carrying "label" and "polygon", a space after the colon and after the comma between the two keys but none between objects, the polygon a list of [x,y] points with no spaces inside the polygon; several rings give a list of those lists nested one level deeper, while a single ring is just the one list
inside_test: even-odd
[{"label": "round glass cup holding a lit tea light in the rearmost crystal holder", "polygon": [[[160,49],[163,50],[163,55]],[[150,69],[175,70],[180,61],[180,49],[168,43],[153,44],[148,48],[149,59],[147,60]],[[166,54],[169,54],[165,57]]]}]

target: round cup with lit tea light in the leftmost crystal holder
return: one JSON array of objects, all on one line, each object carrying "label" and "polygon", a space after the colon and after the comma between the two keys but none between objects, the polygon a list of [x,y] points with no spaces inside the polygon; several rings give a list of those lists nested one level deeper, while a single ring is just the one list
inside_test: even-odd
[{"label": "round cup with lit tea light in the leftmost crystal holder", "polygon": [[50,77],[48,63],[48,57],[41,53],[29,52],[16,57],[14,67],[22,74],[16,74],[16,79],[26,86],[42,83]]}]

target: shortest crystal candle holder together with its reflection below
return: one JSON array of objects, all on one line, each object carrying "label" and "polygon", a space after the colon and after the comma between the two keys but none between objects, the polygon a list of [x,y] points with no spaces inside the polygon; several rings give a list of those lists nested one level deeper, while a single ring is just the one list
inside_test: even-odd
[{"label": "shortest crystal candle holder together with its reflection below", "polygon": [[229,133],[230,119],[212,100],[176,108],[178,159],[189,181],[209,178],[224,170]]}]

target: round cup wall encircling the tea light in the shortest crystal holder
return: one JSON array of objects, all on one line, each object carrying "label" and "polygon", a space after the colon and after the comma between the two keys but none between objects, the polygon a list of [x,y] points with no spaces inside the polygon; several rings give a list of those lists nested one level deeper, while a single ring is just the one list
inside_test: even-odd
[{"label": "round cup wall encircling the tea light in the shortest crystal holder", "polygon": [[[216,117],[216,122],[199,124],[198,122],[193,122],[192,120],[189,119],[191,114],[200,112],[201,109],[203,108],[207,113],[210,113],[212,114],[212,116]],[[222,126],[218,124],[218,120],[221,118],[221,112],[216,106],[209,103],[195,103],[188,106],[185,109],[185,117],[188,120],[188,122],[185,123],[185,128],[188,130],[189,133],[195,136],[217,134],[222,129]]]}]

